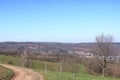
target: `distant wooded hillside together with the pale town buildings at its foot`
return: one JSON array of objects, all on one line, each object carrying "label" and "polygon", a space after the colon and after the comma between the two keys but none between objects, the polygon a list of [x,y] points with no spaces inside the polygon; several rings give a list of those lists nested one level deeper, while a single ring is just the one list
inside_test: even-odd
[{"label": "distant wooded hillside together with the pale town buildings at its foot", "polygon": [[[113,43],[116,47],[116,56],[110,60],[120,61],[120,43]],[[32,50],[37,54],[72,54],[79,57],[94,58],[91,52],[94,43],[57,43],[57,42],[0,42],[0,50]],[[14,53],[13,53],[14,54]]]}]

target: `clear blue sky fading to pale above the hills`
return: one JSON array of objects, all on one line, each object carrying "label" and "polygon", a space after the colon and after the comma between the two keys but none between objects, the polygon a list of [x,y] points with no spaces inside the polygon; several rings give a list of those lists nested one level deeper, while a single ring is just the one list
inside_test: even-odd
[{"label": "clear blue sky fading to pale above the hills", "polygon": [[0,0],[0,42],[120,41],[120,0]]}]

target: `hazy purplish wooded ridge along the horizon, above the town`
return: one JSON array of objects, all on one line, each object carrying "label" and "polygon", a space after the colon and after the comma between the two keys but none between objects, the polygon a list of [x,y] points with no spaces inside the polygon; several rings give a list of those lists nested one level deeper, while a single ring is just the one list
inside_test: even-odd
[{"label": "hazy purplish wooded ridge along the horizon, above the town", "polygon": [[[113,43],[120,51],[120,43]],[[34,50],[39,53],[66,53],[68,51],[89,50],[94,43],[57,42],[0,42],[0,50]]]}]

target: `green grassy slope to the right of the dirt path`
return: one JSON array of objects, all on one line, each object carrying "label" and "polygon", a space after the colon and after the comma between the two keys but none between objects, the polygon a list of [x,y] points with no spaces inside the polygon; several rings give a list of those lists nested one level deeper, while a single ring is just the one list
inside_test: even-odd
[{"label": "green grassy slope to the right of the dirt path", "polygon": [[[42,73],[46,80],[60,80],[60,72],[58,69],[59,63],[52,63],[47,62],[47,72],[45,73],[45,62],[43,61],[35,61],[36,67],[34,70]],[[101,76],[94,76],[85,70],[85,67],[79,64],[79,73],[75,75],[75,80],[119,80],[116,78],[111,77],[101,77]],[[61,80],[73,80],[73,73],[70,72],[63,72]]]}]

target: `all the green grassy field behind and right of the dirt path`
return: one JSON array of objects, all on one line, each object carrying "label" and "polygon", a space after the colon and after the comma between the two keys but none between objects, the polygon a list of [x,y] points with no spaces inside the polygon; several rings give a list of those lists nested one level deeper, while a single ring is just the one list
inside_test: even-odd
[{"label": "all the green grassy field behind and right of the dirt path", "polygon": [[[0,55],[0,61],[1,63],[11,61],[13,65],[19,66],[19,59],[17,57]],[[47,63],[46,68],[45,63]],[[43,74],[46,80],[119,80],[111,77],[102,78],[100,76],[90,75],[81,64],[79,64],[79,73],[62,72],[60,74],[58,66],[59,63],[34,61],[34,67],[32,67],[32,69]]]}]

